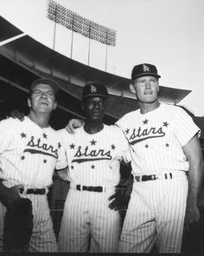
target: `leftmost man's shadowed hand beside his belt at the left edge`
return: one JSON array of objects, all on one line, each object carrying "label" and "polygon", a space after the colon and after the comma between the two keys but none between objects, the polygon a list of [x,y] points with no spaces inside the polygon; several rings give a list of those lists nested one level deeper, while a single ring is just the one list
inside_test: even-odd
[{"label": "leftmost man's shadowed hand beside his belt at the left edge", "polygon": [[12,207],[16,200],[20,200],[19,188],[23,188],[22,185],[16,185],[14,187],[3,186],[3,192],[1,201],[5,207]]}]

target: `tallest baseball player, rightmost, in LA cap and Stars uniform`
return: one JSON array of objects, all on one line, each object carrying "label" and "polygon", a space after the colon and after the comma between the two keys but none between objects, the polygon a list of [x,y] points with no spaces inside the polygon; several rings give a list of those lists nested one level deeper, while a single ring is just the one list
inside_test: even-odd
[{"label": "tallest baseball player, rightmost, in LA cap and Stars uniform", "polygon": [[139,109],[116,122],[133,149],[134,176],[119,253],[149,253],[155,242],[159,253],[181,253],[184,219],[188,227],[200,219],[201,130],[182,108],[159,102],[160,77],[149,63],[132,69]]}]

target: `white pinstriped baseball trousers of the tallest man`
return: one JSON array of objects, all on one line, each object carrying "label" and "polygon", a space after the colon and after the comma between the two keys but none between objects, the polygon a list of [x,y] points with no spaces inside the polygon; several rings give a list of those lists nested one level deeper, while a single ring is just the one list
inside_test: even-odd
[{"label": "white pinstriped baseball trousers of the tallest man", "polygon": [[[187,178],[134,184],[124,219],[119,253],[181,253]],[[178,196],[179,195],[179,196]]]}]

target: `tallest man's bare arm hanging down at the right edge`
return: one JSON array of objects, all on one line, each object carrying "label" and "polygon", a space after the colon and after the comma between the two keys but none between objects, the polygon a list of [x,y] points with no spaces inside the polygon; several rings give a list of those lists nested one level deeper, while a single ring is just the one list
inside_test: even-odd
[{"label": "tallest man's bare arm hanging down at the right edge", "polygon": [[198,197],[203,178],[203,158],[198,136],[194,135],[182,149],[189,162],[188,199],[185,217],[186,226],[189,227],[190,224],[200,220]]}]

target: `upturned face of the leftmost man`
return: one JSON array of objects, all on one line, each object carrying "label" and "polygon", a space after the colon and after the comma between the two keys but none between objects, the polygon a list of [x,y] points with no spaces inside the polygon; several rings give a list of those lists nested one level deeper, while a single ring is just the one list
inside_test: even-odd
[{"label": "upturned face of the leftmost man", "polygon": [[57,106],[54,89],[48,84],[35,85],[28,104],[35,112],[51,113]]}]

